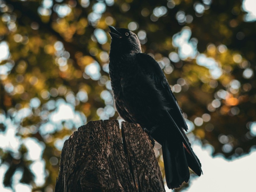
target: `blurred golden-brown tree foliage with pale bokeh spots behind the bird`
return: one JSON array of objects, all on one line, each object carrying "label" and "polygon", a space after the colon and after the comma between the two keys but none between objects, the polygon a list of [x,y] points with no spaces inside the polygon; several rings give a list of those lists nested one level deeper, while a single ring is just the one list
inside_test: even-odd
[{"label": "blurred golden-brown tree foliage with pale bokeh spots behind the bird", "polygon": [[87,121],[120,119],[108,76],[108,25],[134,31],[159,62],[192,142],[226,158],[250,152],[256,143],[251,2],[0,0],[4,186],[53,191],[61,148],[73,131]]}]

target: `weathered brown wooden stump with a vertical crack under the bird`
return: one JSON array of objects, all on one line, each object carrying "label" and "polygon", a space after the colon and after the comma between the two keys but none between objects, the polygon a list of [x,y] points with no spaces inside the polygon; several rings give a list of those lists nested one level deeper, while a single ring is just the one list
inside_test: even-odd
[{"label": "weathered brown wooden stump with a vertical crack under the bird", "polygon": [[148,135],[137,124],[88,122],[65,141],[55,192],[164,190]]}]

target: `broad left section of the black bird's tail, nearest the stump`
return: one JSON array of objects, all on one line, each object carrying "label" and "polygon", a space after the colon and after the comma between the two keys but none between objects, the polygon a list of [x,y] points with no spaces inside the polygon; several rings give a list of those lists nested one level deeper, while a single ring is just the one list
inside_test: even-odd
[{"label": "broad left section of the black bird's tail, nearest the stump", "polygon": [[168,188],[178,188],[189,181],[190,173],[183,142],[175,139],[164,140],[162,143],[165,179]]}]

